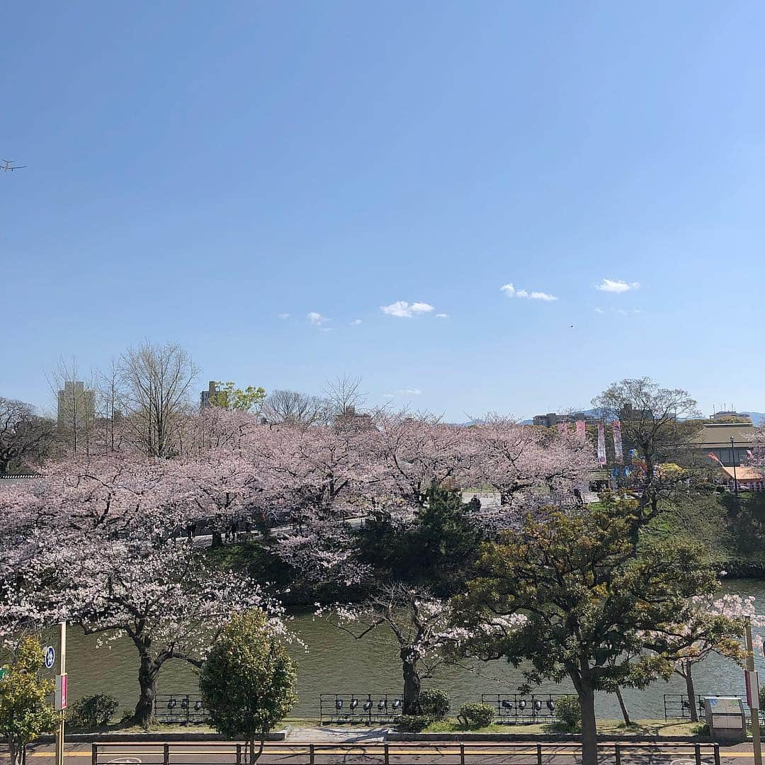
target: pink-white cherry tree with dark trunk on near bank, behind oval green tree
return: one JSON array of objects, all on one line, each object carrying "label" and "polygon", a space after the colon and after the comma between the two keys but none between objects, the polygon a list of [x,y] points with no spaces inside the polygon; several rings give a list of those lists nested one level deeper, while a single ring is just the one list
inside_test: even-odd
[{"label": "pink-white cherry tree with dark trunk on near bank, behind oval green tree", "polygon": [[200,667],[231,614],[260,607],[271,615],[272,627],[283,631],[278,606],[259,584],[209,568],[189,542],[104,540],[88,552],[68,548],[61,558],[63,607],[88,634],[132,640],[140,662],[136,724],[154,718],[165,662],[181,659]]}]

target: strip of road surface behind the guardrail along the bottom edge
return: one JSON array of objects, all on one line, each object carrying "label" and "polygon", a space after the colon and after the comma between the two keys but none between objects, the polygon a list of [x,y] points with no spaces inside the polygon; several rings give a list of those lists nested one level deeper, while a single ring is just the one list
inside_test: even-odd
[{"label": "strip of road surface behind the guardrail along the bottom edge", "polygon": [[[464,745],[465,765],[539,765],[537,745],[505,744],[503,742],[470,742]],[[614,750],[605,745],[601,763],[614,765]],[[259,763],[263,765],[308,765],[308,742],[274,741],[265,744]],[[225,742],[189,742],[169,744],[169,765],[233,765],[236,747]],[[28,765],[53,765],[54,747],[31,746]],[[67,765],[90,765],[91,744],[67,744]],[[389,765],[460,765],[458,742],[390,742]],[[5,747],[0,760],[7,760]],[[721,747],[721,765],[750,765],[754,763],[751,744]],[[571,744],[542,744],[542,765],[576,765],[580,761],[576,747]],[[702,745],[703,765],[714,765],[709,747]],[[149,742],[136,744],[99,744],[96,765],[163,765],[164,746]],[[695,765],[692,747],[687,744],[646,744],[637,749],[632,744],[624,750],[622,765]],[[379,741],[356,744],[314,745],[315,765],[384,765],[385,748]]]}]

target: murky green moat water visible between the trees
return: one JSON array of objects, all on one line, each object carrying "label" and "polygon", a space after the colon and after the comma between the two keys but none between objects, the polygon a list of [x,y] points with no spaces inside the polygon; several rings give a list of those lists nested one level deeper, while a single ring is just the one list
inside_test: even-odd
[{"label": "murky green moat water visible between the trees", "polygon": [[[723,592],[757,597],[758,610],[765,609],[765,581],[726,581]],[[325,620],[311,614],[297,614],[291,627],[308,645],[308,652],[293,646],[291,653],[298,661],[298,695],[300,700],[291,716],[317,718],[320,693],[354,692],[373,698],[379,693],[399,692],[402,687],[398,649],[390,636],[380,628],[379,634],[355,640]],[[762,636],[763,630],[755,630]],[[757,643],[757,639],[755,639]],[[57,641],[54,640],[54,646]],[[761,642],[760,642],[761,645]],[[765,679],[765,659],[756,656],[757,669]],[[120,711],[135,705],[138,695],[138,656],[128,639],[108,646],[96,647],[95,636],[80,630],[69,630],[67,671],[71,700],[93,693],[110,693],[119,699]],[[521,682],[518,669],[506,662],[475,662],[465,666],[444,666],[423,687],[443,688],[451,696],[452,708],[461,703],[480,701],[482,693],[512,694]],[[711,656],[695,669],[696,690],[702,694],[744,695],[744,675],[727,659]],[[571,685],[548,683],[540,692],[571,692]],[[167,662],[161,669],[159,693],[197,693],[195,670],[184,662]],[[671,682],[657,682],[646,691],[627,689],[623,695],[633,718],[660,719],[664,716],[663,694],[685,692],[685,682],[675,677]],[[597,713],[603,718],[619,718],[617,700],[599,694]]]}]

